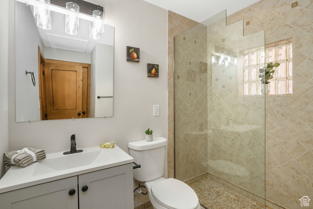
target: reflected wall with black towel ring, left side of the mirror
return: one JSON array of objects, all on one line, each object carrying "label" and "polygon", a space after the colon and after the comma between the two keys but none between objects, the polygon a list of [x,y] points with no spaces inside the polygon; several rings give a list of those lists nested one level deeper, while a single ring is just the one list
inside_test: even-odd
[{"label": "reflected wall with black towel ring, left side of the mirror", "polygon": [[[16,121],[40,120],[39,85],[38,85],[38,45],[44,52],[41,40],[30,7],[24,3],[16,3],[18,20],[16,23]],[[26,23],[24,23],[24,20]],[[14,69],[12,69],[14,70]],[[31,74],[34,72],[36,86],[33,86]],[[15,107],[15,105],[14,105]],[[21,118],[23,117],[23,119]]]}]

